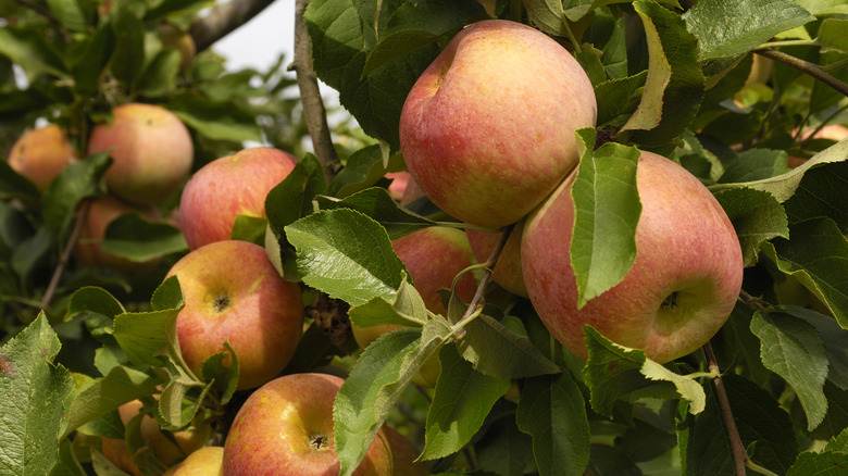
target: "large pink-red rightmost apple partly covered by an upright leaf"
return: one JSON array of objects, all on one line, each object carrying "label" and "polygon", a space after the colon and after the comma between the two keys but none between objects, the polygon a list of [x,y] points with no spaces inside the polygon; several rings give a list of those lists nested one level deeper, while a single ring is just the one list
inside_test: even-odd
[{"label": "large pink-red rightmost apple partly covered by an upright leaf", "polygon": [[522,236],[527,292],[553,337],[583,359],[584,324],[660,363],[703,346],[731,314],[743,279],[739,241],[719,202],[682,166],[641,152],[636,261],[619,285],[577,310],[569,253],[573,179],[527,218]]}]

